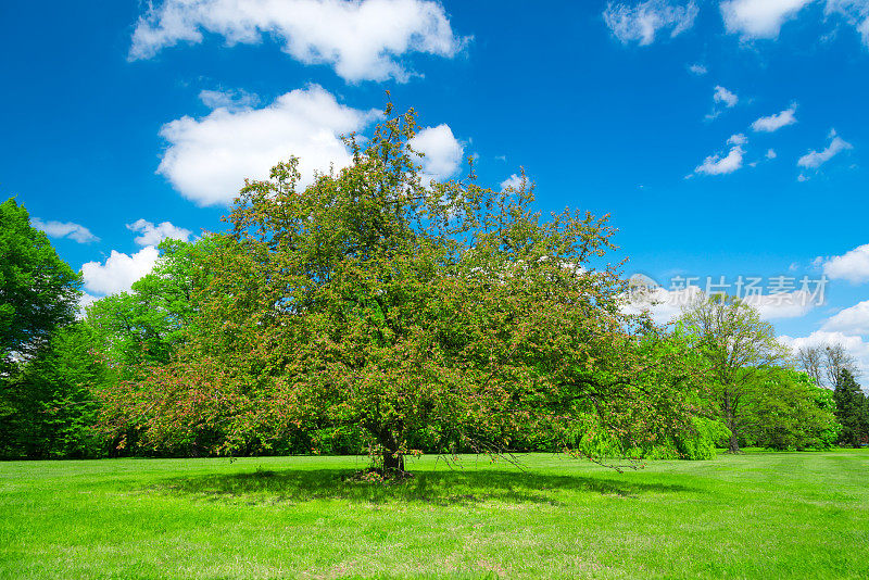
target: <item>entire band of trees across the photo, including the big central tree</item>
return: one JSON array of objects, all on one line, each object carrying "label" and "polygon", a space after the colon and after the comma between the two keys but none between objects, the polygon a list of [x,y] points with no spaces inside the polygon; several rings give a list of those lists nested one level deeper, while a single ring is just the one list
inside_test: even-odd
[{"label": "entire band of trees across the photo, including the big central tree", "polygon": [[429,182],[388,118],[354,163],[241,191],[229,231],[167,240],[129,292],[76,316],[80,276],[0,205],[0,454],[558,451],[709,458],[866,441],[848,365],[795,370],[772,327],[704,297],[675,327],[627,314],[605,218],[532,188]]}]

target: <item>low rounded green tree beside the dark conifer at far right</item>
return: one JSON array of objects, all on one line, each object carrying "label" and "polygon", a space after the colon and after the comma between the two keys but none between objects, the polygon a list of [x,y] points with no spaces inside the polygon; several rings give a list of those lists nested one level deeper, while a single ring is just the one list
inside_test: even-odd
[{"label": "low rounded green tree beside the dark conifer at far right", "polygon": [[829,449],[840,430],[831,395],[805,373],[766,369],[748,383],[738,417],[740,431],[755,446]]}]

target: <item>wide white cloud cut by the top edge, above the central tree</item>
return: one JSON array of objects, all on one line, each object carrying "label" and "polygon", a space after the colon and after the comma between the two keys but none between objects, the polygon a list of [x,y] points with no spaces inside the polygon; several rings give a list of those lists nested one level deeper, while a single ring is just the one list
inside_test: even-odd
[{"label": "wide white cloud cut by the top edge, above the central tree", "polygon": [[451,58],[466,42],[453,34],[440,3],[429,0],[164,0],[136,23],[129,59],[200,43],[203,33],[228,46],[274,38],[293,59],[329,64],[349,81],[406,80],[401,56]]}]

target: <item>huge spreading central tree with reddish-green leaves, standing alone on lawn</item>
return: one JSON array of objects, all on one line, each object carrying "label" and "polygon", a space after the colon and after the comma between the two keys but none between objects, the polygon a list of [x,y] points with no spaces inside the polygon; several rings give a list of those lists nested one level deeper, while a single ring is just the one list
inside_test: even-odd
[{"label": "huge spreading central tree with reddish-green leaves, standing alone on lawn", "polygon": [[351,137],[351,166],[308,187],[294,160],[249,182],[203,256],[197,331],[115,393],[118,415],[164,445],[219,432],[229,453],[358,428],[386,471],[529,429],[569,447],[590,416],[624,449],[688,428],[691,370],[622,314],[606,218],[544,219],[528,184],[429,181],[415,127]]}]

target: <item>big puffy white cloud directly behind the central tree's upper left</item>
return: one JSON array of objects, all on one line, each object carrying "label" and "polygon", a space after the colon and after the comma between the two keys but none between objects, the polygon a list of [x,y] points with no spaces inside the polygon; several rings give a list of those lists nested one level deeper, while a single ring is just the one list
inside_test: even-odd
[{"label": "big puffy white cloud directly behind the central tree's upper left", "polygon": [[169,147],[158,173],[185,198],[217,205],[235,199],[244,178],[267,178],[274,165],[295,155],[305,186],[315,171],[349,165],[351,154],[340,135],[364,128],[376,116],[376,111],[339,104],[317,85],[282,94],[263,109],[185,116],[160,131]]}]

